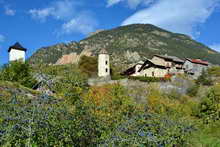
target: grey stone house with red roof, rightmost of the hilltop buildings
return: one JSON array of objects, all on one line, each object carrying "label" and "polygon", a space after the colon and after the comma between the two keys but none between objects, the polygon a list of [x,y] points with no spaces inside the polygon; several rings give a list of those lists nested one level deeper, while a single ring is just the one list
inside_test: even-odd
[{"label": "grey stone house with red roof, rightmost of the hilltop buildings", "polygon": [[203,70],[207,70],[209,63],[207,61],[202,61],[201,59],[189,59],[187,58],[183,69],[186,74],[192,75],[194,79],[197,79]]}]

